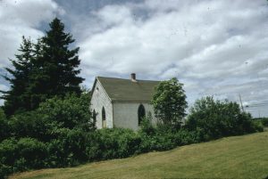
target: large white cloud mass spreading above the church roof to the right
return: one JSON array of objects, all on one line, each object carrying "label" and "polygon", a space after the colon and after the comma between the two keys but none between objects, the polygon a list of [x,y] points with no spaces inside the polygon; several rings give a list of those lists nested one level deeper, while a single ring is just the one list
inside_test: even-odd
[{"label": "large white cloud mass spreading above the church roof to the right", "polygon": [[[137,16],[137,11],[147,14]],[[205,94],[237,100],[238,93],[259,89],[258,77],[268,87],[267,17],[267,2],[262,0],[109,5],[93,15],[96,21],[91,27],[101,30],[87,33],[85,29],[80,35],[82,73],[85,77],[128,77],[130,72],[155,79],[179,77],[190,84],[185,88],[191,102],[192,96]],[[264,94],[248,100],[254,98]]]}]

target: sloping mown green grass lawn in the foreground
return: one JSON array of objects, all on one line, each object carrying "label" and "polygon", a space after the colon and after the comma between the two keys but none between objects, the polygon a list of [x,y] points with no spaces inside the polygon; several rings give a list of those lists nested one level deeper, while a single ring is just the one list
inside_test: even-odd
[{"label": "sloping mown green grass lawn in the foreground", "polygon": [[44,169],[10,178],[266,178],[268,132],[222,138],[80,167]]}]

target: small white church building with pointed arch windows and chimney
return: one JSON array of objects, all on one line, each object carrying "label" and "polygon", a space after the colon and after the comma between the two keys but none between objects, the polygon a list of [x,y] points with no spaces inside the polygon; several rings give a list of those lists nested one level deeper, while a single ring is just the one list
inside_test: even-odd
[{"label": "small white church building with pointed arch windows and chimney", "polygon": [[96,128],[124,127],[138,130],[141,119],[149,112],[156,121],[150,104],[159,81],[96,77],[91,91],[91,110]]}]

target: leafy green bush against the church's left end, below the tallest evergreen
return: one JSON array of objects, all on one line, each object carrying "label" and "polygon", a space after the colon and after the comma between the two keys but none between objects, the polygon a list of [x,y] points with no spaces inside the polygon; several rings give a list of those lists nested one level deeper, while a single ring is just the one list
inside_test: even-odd
[{"label": "leafy green bush against the church's left end, below the tallest evergreen", "polygon": [[89,131],[95,127],[89,109],[89,94],[69,94],[63,99],[54,97],[40,104],[38,113],[47,121],[63,128],[82,128]]}]

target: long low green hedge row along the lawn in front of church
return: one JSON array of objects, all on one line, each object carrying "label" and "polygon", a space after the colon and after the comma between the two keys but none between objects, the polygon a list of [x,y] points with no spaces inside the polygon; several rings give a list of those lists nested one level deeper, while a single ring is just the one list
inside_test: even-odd
[{"label": "long low green hedge row along the lawn in front of church", "polygon": [[197,133],[148,135],[130,129],[101,129],[83,132],[61,128],[50,142],[34,138],[9,138],[0,143],[0,178],[19,171],[45,167],[71,167],[104,159],[126,158],[147,151],[165,151],[176,146],[199,142]]}]

